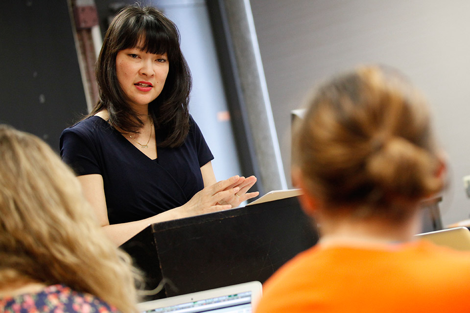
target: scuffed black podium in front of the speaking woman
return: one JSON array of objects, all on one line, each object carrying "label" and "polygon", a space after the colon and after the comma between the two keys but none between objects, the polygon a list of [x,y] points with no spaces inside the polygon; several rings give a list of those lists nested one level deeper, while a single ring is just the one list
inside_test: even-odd
[{"label": "scuffed black podium in front of the speaking woman", "polygon": [[258,280],[263,283],[318,234],[287,198],[152,224],[121,247],[144,271],[146,289],[165,279],[146,300]]}]

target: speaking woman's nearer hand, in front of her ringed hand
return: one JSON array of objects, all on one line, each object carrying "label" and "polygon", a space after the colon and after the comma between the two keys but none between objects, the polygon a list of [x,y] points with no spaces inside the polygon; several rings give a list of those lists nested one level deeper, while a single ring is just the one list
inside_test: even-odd
[{"label": "speaking woman's nearer hand, in front of her ringed hand", "polygon": [[[224,202],[223,200],[238,198],[235,194],[241,192],[241,189],[244,188],[238,183],[240,179],[242,178],[237,175],[229,179],[218,181],[199,191],[186,204],[174,210],[178,211],[179,218],[183,218],[235,207],[230,202]],[[243,178],[243,180],[245,179]]]}]

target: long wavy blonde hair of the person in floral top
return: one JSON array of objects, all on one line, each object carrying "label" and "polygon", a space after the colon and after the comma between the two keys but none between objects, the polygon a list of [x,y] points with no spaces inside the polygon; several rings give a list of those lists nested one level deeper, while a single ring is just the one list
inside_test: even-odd
[{"label": "long wavy blonde hair of the person in floral top", "polygon": [[38,137],[0,125],[0,289],[64,284],[136,312],[138,274],[105,237],[71,170]]}]

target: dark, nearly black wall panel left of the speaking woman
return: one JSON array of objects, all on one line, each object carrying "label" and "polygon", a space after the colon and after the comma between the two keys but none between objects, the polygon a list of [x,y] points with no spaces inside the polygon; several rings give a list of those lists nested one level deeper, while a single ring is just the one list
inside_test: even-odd
[{"label": "dark, nearly black wall panel left of the speaking woman", "polygon": [[0,123],[58,151],[87,109],[67,2],[0,1],[0,29]]}]

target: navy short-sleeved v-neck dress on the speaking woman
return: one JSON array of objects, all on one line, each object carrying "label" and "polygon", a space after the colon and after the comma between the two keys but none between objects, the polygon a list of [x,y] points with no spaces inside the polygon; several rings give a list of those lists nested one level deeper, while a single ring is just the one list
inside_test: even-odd
[{"label": "navy short-sleeved v-neck dress on the speaking woman", "polygon": [[[99,174],[110,224],[139,221],[181,206],[204,188],[201,167],[213,159],[199,127],[177,148],[158,148],[150,159],[107,121],[90,116],[65,129],[60,155],[77,176]],[[156,140],[164,138],[156,132]]]}]

